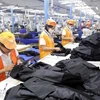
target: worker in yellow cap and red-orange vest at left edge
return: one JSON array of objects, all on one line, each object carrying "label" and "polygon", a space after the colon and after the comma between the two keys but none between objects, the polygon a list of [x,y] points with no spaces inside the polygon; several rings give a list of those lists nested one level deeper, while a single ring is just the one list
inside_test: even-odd
[{"label": "worker in yellow cap and red-orange vest at left edge", "polygon": [[15,49],[15,37],[11,32],[0,34],[0,81],[6,79],[9,71],[16,64],[21,63],[18,58],[18,52]]}]

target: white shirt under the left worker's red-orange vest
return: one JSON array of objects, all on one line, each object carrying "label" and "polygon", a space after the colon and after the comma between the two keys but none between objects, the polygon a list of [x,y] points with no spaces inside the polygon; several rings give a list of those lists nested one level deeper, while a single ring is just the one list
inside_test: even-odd
[{"label": "white shirt under the left worker's red-orange vest", "polygon": [[[16,52],[16,56],[18,56],[19,54],[18,54],[18,52],[17,52],[16,49],[15,49],[15,52]],[[6,67],[7,65],[12,64],[12,60],[11,60],[11,58],[10,58],[10,53],[9,53],[8,55],[5,55],[5,54],[3,54],[2,51],[0,50],[0,57],[1,57],[2,61],[3,61],[4,67]]]}]

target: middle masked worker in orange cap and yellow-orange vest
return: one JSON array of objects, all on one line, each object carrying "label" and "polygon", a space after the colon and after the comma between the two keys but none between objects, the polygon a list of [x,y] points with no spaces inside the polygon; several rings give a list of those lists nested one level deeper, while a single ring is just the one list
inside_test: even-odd
[{"label": "middle masked worker in orange cap and yellow-orange vest", "polygon": [[56,27],[56,22],[52,19],[46,21],[45,29],[40,34],[39,38],[39,50],[40,50],[40,59],[52,53],[52,51],[60,51],[59,47],[55,47],[53,32]]}]

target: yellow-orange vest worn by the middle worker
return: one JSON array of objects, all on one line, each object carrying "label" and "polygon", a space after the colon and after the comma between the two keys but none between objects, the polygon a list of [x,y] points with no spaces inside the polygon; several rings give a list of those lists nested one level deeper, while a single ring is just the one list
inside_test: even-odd
[{"label": "yellow-orange vest worn by the middle worker", "polygon": [[[48,35],[45,34],[45,32],[41,33],[40,38],[44,38],[44,40],[46,41],[46,47],[54,48],[54,42]],[[40,46],[40,44],[39,44],[39,50],[40,50],[40,59],[51,54],[52,52],[52,50],[44,51],[42,47]]]}]

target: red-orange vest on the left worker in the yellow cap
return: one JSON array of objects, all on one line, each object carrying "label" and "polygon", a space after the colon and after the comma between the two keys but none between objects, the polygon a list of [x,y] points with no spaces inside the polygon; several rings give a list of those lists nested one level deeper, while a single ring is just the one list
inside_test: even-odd
[{"label": "red-orange vest on the left worker in the yellow cap", "polygon": [[[12,50],[10,53],[11,59],[14,64],[17,63],[17,56],[15,50]],[[2,58],[0,57],[0,70],[4,68]],[[0,82],[6,79],[6,73],[0,74]]]}]

